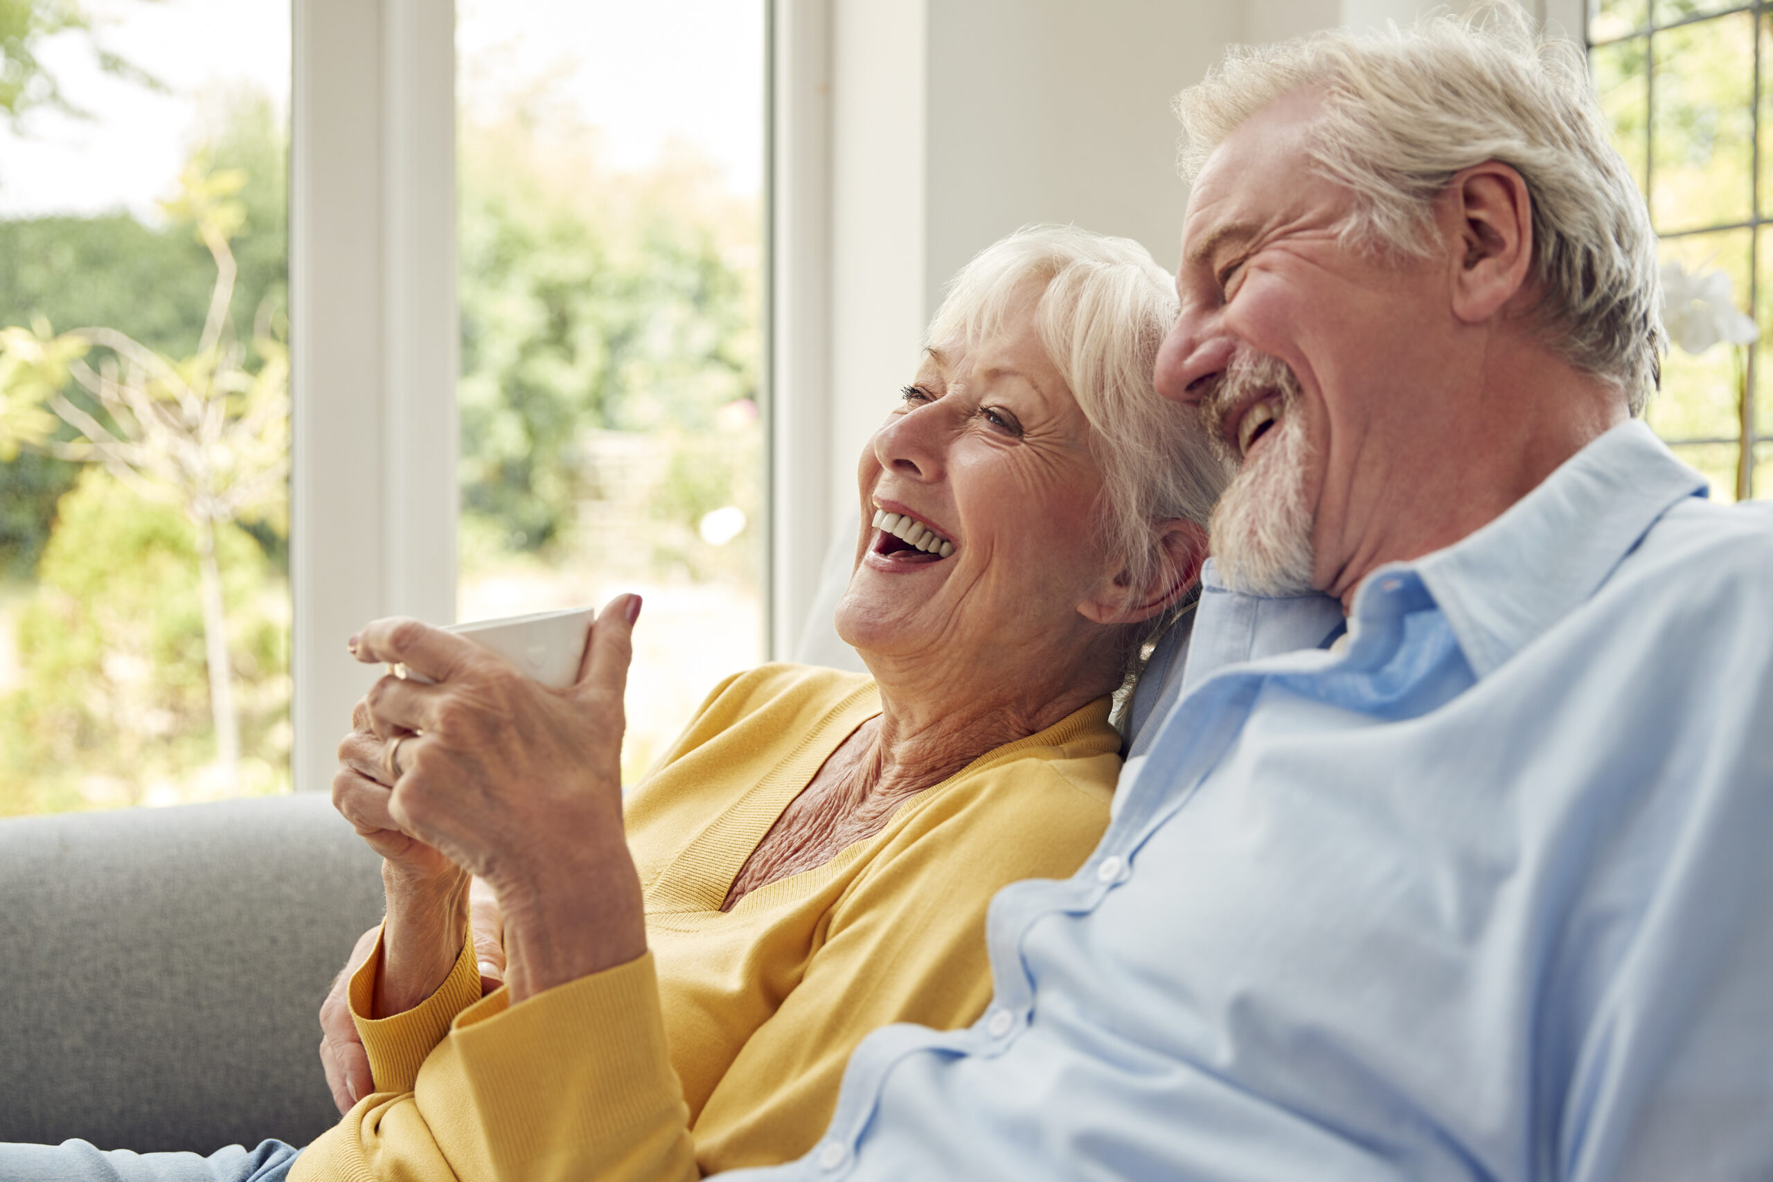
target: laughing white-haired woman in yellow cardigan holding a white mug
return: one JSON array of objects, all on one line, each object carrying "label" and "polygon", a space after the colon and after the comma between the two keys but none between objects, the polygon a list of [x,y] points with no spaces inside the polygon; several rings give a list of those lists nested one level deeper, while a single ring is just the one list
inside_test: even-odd
[{"label": "laughing white-haired woman in yellow cardigan holding a white mug", "polygon": [[[1204,558],[1223,470],[1151,386],[1174,315],[1124,239],[1032,229],[968,264],[856,473],[837,627],[872,677],[729,679],[626,801],[638,597],[567,691],[411,620],[355,636],[434,684],[383,679],[340,746],[388,888],[349,980],[374,1090],[289,1177],[785,1161],[871,1030],[975,1021],[988,904],[1096,845],[1110,698]],[[486,998],[470,875],[504,916]]]}]

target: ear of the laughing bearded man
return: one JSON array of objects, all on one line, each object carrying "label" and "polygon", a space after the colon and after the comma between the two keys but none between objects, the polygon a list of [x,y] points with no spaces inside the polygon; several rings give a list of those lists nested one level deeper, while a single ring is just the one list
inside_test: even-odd
[{"label": "ear of the laughing bearded man", "polygon": [[1466,324],[1496,315],[1527,285],[1534,202],[1521,174],[1500,161],[1456,172],[1438,202],[1443,241],[1457,253],[1452,312]]}]

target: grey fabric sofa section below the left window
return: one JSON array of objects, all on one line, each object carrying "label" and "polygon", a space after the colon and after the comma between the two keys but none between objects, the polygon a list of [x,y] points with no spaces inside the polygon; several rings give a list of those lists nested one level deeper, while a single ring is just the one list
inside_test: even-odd
[{"label": "grey fabric sofa section below the left window", "polygon": [[316,1014],[381,918],[324,794],[0,820],[0,1141],[305,1145]]}]

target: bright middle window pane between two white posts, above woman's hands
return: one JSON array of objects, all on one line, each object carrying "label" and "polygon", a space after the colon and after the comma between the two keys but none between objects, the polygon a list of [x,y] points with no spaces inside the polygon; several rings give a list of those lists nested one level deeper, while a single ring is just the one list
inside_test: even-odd
[{"label": "bright middle window pane between two white posts, above woman's hands", "polygon": [[764,649],[762,14],[457,2],[457,615],[640,592],[628,783]]}]

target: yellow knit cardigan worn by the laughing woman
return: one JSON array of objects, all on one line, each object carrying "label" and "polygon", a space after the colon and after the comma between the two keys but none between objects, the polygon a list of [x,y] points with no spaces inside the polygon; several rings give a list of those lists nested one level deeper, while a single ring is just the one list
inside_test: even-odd
[{"label": "yellow knit cardigan worn by the laughing woman", "polygon": [[729,679],[629,796],[647,955],[509,1007],[472,941],[415,1010],[372,1021],[376,1093],[296,1159],[293,1182],[695,1178],[800,1157],[878,1026],[965,1026],[991,998],[991,895],[1073,874],[1108,824],[1119,735],[1101,698],[911,797],[832,861],[722,913],[739,867],[858,725],[853,673]]}]

